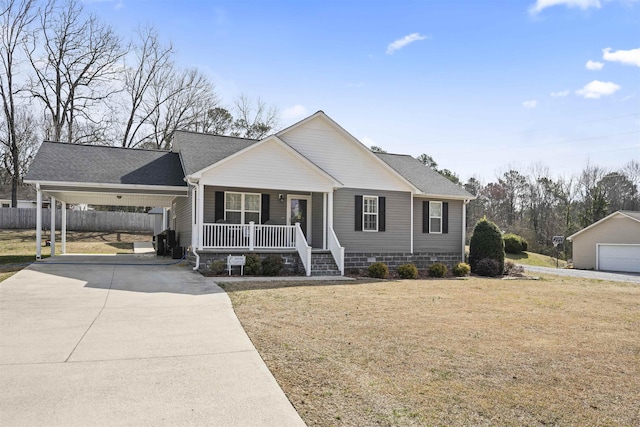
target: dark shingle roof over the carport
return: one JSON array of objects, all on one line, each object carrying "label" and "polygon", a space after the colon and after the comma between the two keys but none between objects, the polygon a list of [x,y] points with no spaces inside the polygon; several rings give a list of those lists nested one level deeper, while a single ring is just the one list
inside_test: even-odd
[{"label": "dark shingle roof over the carport", "polygon": [[177,153],[45,141],[29,181],[186,186]]}]

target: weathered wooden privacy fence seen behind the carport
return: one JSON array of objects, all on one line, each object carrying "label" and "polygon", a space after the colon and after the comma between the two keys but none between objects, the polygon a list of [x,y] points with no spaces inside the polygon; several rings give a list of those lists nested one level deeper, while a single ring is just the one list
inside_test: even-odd
[{"label": "weathered wooden privacy fence seen behind the carport", "polygon": [[[70,231],[148,231],[153,232],[153,215],[133,212],[67,210]],[[48,230],[51,210],[42,209],[42,228]],[[56,209],[56,230],[62,225],[61,210]],[[0,229],[36,228],[36,209],[0,208]]]}]

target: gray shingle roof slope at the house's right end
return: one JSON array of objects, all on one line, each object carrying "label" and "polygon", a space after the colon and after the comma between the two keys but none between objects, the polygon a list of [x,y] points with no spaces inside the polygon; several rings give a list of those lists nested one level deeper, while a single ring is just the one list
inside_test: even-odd
[{"label": "gray shingle roof slope at the house's right end", "polygon": [[407,154],[375,153],[396,172],[415,185],[426,196],[451,199],[475,199],[464,188]]}]

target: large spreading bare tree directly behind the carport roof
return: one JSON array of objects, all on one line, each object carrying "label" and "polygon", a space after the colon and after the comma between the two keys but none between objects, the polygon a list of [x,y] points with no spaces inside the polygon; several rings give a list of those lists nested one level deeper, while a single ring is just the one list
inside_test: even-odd
[{"label": "large spreading bare tree directly behind the carport roof", "polygon": [[[40,14],[29,58],[35,74],[31,93],[44,105],[50,122],[49,139],[78,142],[92,135],[75,134],[82,123],[96,130],[107,111],[104,101],[117,88],[118,61],[124,56],[120,38],[94,15],[83,12],[77,0],[50,0]],[[42,46],[42,50],[38,49]]]}]

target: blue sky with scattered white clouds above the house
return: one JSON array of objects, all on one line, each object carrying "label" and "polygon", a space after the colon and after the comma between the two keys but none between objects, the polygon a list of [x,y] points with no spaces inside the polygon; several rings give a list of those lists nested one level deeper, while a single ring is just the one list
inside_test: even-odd
[{"label": "blue sky with scattered white clouds above the house", "polygon": [[640,1],[94,0],[155,26],[223,103],[323,110],[366,145],[485,181],[640,161]]}]

